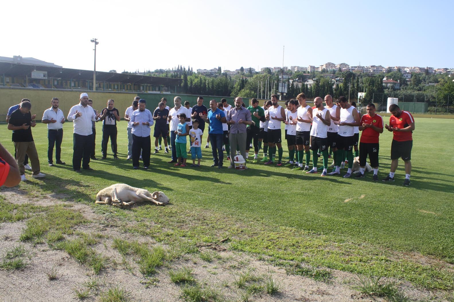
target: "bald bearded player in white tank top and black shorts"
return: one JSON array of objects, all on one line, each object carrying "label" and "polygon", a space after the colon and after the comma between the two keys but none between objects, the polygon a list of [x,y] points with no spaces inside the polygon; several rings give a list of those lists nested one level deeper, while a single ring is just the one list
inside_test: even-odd
[{"label": "bald bearded player in white tank top and black shorts", "polygon": [[307,171],[309,174],[317,173],[318,151],[323,155],[323,172],[321,176],[326,176],[328,173],[328,127],[331,126],[330,111],[323,107],[321,97],[314,99],[315,109],[312,111],[312,128],[311,128],[311,149],[312,162],[314,166],[312,170]]}]

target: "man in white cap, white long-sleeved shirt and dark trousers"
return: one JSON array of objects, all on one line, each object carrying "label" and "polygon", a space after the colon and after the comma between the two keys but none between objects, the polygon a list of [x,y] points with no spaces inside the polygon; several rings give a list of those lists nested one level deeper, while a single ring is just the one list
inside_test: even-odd
[{"label": "man in white cap, white long-sleeved shirt and dark trousers", "polygon": [[100,114],[95,114],[93,108],[88,105],[88,94],[80,94],[80,103],[71,107],[68,113],[68,121],[74,125],[74,152],[73,169],[80,173],[80,161],[84,170],[90,168],[90,153],[93,144],[92,121],[98,121]]}]

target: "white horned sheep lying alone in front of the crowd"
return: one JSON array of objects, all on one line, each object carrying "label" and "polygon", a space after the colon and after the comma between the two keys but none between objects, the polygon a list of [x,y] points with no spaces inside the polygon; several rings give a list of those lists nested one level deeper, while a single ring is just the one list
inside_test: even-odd
[{"label": "white horned sheep lying alone in front of the crowd", "polygon": [[167,205],[170,200],[161,191],[152,194],[145,189],[134,188],[126,184],[115,184],[100,190],[94,202],[123,208],[145,201],[151,201],[156,205]]}]

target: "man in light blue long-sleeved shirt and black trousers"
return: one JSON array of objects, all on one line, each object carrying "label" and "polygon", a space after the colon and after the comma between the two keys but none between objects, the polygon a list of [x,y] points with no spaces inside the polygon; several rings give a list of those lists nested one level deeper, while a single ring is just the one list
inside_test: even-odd
[{"label": "man in light blue long-sleeved shirt and black trousers", "polygon": [[143,169],[150,166],[150,126],[153,125],[153,115],[148,109],[145,109],[146,101],[139,100],[139,108],[131,116],[131,125],[133,126],[133,169],[139,168],[139,156],[142,150]]}]

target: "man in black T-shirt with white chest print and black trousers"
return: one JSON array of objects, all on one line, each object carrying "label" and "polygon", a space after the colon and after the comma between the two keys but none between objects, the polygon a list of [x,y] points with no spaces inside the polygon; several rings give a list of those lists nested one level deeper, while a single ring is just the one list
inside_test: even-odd
[{"label": "man in black T-shirt with white chest print and black trousers", "polygon": [[107,101],[107,107],[101,111],[101,117],[99,118],[103,122],[103,157],[101,159],[106,159],[107,156],[107,143],[109,142],[112,145],[112,151],[114,152],[114,158],[118,159],[117,156],[117,121],[120,121],[120,112],[117,108],[114,108],[114,100],[109,99]]}]

